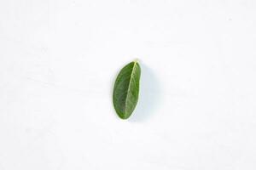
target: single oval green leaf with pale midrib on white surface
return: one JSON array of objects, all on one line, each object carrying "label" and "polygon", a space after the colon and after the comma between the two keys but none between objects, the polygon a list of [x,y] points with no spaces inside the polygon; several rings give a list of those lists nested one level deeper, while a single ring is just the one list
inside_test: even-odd
[{"label": "single oval green leaf with pale midrib on white surface", "polygon": [[121,119],[127,119],[134,111],[140,86],[141,68],[136,61],[125,65],[119,72],[113,87],[113,107]]}]

